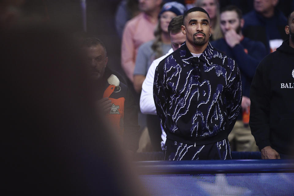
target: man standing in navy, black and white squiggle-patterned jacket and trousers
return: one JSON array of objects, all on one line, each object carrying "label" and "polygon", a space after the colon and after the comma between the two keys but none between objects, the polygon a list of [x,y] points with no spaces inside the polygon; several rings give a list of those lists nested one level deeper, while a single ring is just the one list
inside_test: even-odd
[{"label": "man standing in navy, black and white squiggle-patterned jacket and trousers", "polygon": [[157,115],[167,133],[165,160],[232,159],[228,134],[242,99],[235,61],[209,44],[208,13],[183,16],[186,43],[162,60],[154,76]]}]

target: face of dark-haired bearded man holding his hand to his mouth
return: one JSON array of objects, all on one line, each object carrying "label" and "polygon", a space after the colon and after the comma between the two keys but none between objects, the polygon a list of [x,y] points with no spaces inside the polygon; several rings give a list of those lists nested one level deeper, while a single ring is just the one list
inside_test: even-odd
[{"label": "face of dark-haired bearded man holding his hand to his mouth", "polygon": [[239,34],[243,25],[243,19],[240,20],[235,11],[225,11],[220,14],[220,28],[223,34],[231,29],[234,29]]}]

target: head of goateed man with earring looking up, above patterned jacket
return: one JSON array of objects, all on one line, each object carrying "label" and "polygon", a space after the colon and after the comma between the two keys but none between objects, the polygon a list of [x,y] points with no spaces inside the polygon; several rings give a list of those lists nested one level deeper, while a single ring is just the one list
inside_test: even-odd
[{"label": "head of goateed man with earring looking up, above patterned jacket", "polygon": [[182,26],[182,32],[189,43],[198,46],[206,44],[209,40],[209,33],[211,33],[207,14],[199,11],[188,13],[184,26]]}]

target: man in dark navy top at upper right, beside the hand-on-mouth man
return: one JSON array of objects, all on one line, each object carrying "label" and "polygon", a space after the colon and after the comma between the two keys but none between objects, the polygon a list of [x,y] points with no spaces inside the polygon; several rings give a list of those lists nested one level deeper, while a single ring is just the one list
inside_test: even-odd
[{"label": "man in dark navy top at upper right, beside the hand-on-mouth man", "polygon": [[287,39],[287,18],[276,9],[278,0],[254,0],[254,10],[244,16],[243,34],[261,41],[267,52],[273,52]]}]

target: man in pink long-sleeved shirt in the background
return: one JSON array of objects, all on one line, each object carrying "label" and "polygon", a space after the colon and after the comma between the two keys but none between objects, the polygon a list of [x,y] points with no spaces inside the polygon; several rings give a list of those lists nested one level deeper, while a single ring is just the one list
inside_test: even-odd
[{"label": "man in pink long-sleeved shirt in the background", "polygon": [[122,68],[128,79],[133,82],[133,73],[138,48],[141,44],[154,39],[154,29],[158,21],[162,0],[139,0],[138,16],[126,23],[122,38]]}]

